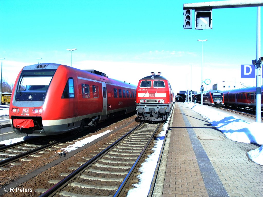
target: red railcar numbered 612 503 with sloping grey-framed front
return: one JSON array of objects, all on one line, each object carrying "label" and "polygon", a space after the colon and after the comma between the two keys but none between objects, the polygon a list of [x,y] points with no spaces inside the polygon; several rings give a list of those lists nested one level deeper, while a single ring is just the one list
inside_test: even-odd
[{"label": "red railcar numbered 612 503 with sloping grey-framed front", "polygon": [[135,111],[136,86],[95,70],[45,63],[25,66],[9,108],[13,130],[23,136],[83,131]]}]

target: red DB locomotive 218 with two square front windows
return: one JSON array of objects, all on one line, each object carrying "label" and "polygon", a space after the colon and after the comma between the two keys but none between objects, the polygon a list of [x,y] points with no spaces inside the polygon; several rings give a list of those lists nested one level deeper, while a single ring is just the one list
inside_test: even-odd
[{"label": "red DB locomotive 218 with two square front windows", "polygon": [[137,117],[144,121],[166,121],[173,106],[174,94],[167,79],[155,75],[139,80],[136,89]]}]

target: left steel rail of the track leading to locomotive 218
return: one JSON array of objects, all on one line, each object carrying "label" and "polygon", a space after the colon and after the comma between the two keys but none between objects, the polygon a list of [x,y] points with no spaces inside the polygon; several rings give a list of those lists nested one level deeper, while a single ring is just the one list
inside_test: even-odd
[{"label": "left steel rail of the track leading to locomotive 218", "polygon": [[141,126],[144,122],[141,122],[139,125],[131,129],[128,133],[126,133],[124,136],[119,138],[117,141],[110,144],[107,148],[105,148],[102,152],[88,160],[86,163],[84,163],[82,166],[80,166],[78,169],[76,169],[74,172],[70,173],[67,177],[62,179],[60,182],[55,184],[52,188],[49,188],[47,191],[45,191],[43,194],[41,194],[39,197],[47,197],[47,196],[53,196],[57,190],[63,188],[65,185],[68,184],[68,182],[75,177],[78,176],[79,173],[83,172],[87,167],[89,167],[93,162],[95,162],[98,158],[102,157],[105,153],[108,152],[109,149],[114,147],[116,144],[118,144],[122,139],[124,139],[126,136],[128,136],[130,133],[132,133],[136,128]]}]

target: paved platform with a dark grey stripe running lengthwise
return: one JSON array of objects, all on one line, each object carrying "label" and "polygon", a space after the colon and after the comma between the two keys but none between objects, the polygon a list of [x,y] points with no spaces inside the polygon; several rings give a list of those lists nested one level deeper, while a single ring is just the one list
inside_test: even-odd
[{"label": "paved platform with a dark grey stripe running lengthwise", "polygon": [[263,196],[263,166],[247,156],[258,146],[231,141],[185,103],[172,121],[152,196]]}]

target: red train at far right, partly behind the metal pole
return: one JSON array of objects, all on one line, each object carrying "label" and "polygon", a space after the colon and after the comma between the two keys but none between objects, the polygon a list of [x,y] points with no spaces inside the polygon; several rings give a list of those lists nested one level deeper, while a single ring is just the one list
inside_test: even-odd
[{"label": "red train at far right, partly behind the metal pole", "polygon": [[[256,109],[256,87],[225,90],[223,93],[226,106]],[[261,109],[263,109],[263,86],[261,86]]]}]

